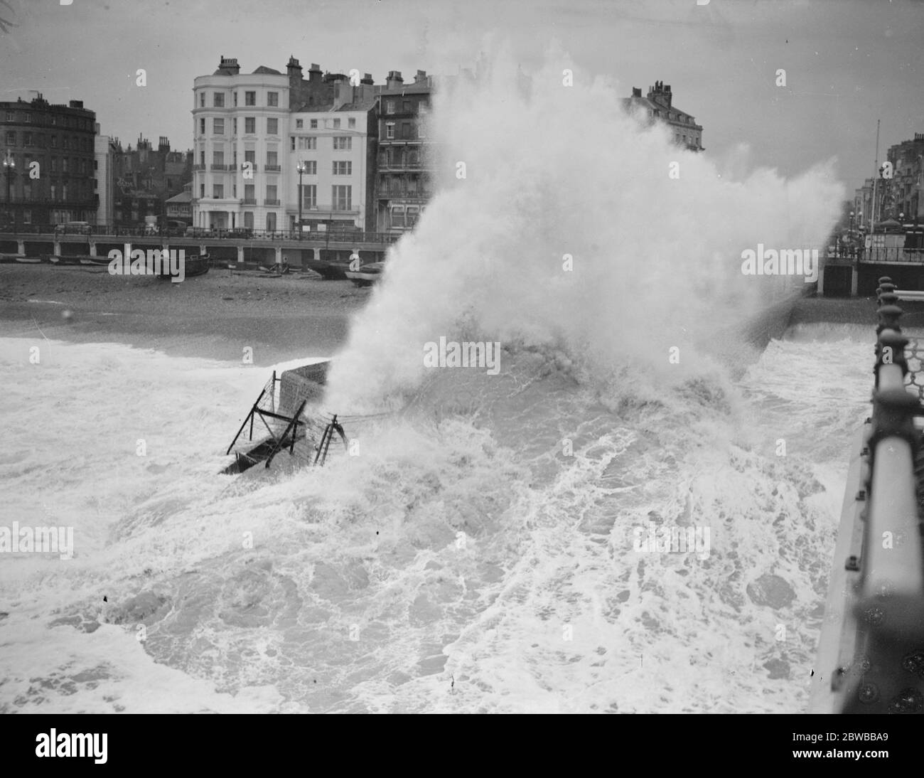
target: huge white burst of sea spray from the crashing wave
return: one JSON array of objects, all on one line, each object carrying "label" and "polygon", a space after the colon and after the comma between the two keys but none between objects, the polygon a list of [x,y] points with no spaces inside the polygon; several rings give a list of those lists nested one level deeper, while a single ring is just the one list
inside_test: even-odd
[{"label": "huge white burst of sea spray from the crashing wave", "polygon": [[831,164],[789,181],[767,169],[730,180],[708,153],[626,114],[626,89],[566,58],[526,89],[515,70],[501,59],[436,92],[437,194],[334,362],[336,407],[418,384],[423,344],[461,341],[463,319],[478,339],[560,344],[592,369],[675,376],[671,346],[727,338],[794,286],[743,275],[743,249],[818,245],[836,218]]}]

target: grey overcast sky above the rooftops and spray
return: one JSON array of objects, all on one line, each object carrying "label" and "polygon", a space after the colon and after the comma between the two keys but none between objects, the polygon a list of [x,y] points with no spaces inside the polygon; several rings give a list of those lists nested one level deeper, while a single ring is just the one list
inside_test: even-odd
[{"label": "grey overcast sky above the rooftops and spray", "polygon": [[[454,74],[509,45],[525,70],[554,42],[626,96],[655,80],[703,125],[707,154],[785,175],[831,156],[847,187],[924,132],[919,0],[0,0],[0,100],[82,100],[103,133],[192,143],[192,80],[222,55],[242,72],[356,67]],[[700,0],[702,2],[702,0]],[[14,26],[15,25],[15,26]],[[147,86],[135,86],[136,71]],[[775,85],[786,71],[786,86]],[[740,156],[740,152],[738,152]]]}]

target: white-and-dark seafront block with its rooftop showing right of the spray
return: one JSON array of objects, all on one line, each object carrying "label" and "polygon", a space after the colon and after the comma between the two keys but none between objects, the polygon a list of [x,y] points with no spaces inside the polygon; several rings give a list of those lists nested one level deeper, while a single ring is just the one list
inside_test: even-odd
[{"label": "white-and-dark seafront block with its rooftop showing right of the spray", "polygon": [[[424,118],[437,87],[423,70],[407,83],[393,70],[376,85],[369,73],[351,79],[315,64],[305,78],[294,56],[285,74],[242,74],[222,57],[193,83],[194,224],[291,230],[300,214],[308,232],[411,229],[432,195]],[[669,85],[647,97],[634,89],[626,107],[702,151],[702,127],[672,104]]]}]

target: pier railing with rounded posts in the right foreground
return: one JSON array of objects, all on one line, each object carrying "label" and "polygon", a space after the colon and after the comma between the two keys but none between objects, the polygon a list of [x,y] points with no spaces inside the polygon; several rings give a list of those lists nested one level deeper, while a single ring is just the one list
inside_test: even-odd
[{"label": "pier railing with rounded posts in the right foreground", "polygon": [[[873,409],[856,497],[865,505],[845,512],[840,530],[859,536],[859,553],[834,560],[832,579],[843,579],[844,610],[826,619],[840,617],[841,654],[836,668],[818,670],[831,678],[835,712],[919,713],[924,712],[924,459],[915,419],[924,416],[924,382],[909,375],[909,340],[899,325],[902,310],[891,279],[880,279],[877,295]],[[912,353],[917,361],[917,341]],[[921,369],[918,363],[915,372]],[[836,565],[854,574],[844,577]]]}]

